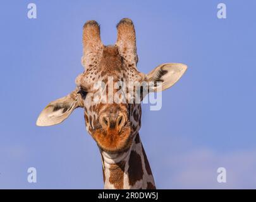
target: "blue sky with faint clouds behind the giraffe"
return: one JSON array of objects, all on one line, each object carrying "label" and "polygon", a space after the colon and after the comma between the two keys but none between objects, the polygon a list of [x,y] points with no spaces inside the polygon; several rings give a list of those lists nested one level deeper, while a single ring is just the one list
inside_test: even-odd
[{"label": "blue sky with faint clouds behind the giraffe", "polygon": [[[37,19],[27,18],[28,3]],[[225,3],[227,19],[217,18]],[[158,188],[256,188],[255,1],[1,1],[0,188],[102,188],[99,149],[78,109],[58,126],[35,121],[82,73],[82,27],[101,24],[104,44],[128,17],[138,69],[165,62],[188,71],[143,105],[140,136]],[[37,183],[27,182],[28,167]],[[225,167],[227,182],[217,182]]]}]

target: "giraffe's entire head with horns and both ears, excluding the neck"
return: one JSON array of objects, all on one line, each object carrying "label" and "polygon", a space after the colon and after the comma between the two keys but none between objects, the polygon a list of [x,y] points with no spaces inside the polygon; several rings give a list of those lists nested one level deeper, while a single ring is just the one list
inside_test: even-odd
[{"label": "giraffe's entire head with horns and both ears, excluding the neck", "polygon": [[[149,74],[140,73],[133,22],[124,18],[117,29],[116,44],[106,46],[101,42],[98,23],[85,23],[82,56],[85,71],[76,77],[73,92],[50,102],[42,110],[38,126],[59,124],[73,110],[82,107],[87,131],[101,150],[118,153],[130,148],[140,129],[140,101],[148,92],[174,85],[185,73],[186,65],[161,64]],[[156,82],[161,82],[161,88]],[[147,86],[147,90],[142,86]]]}]

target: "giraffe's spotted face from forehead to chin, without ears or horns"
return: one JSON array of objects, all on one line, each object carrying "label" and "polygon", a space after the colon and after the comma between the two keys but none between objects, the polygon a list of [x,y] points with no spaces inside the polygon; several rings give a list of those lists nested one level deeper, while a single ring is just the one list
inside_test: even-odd
[{"label": "giraffe's spotted face from forehead to chin, without ears or horns", "polygon": [[[131,146],[140,129],[140,91],[133,89],[144,74],[128,66],[116,45],[104,46],[97,70],[88,68],[76,78],[88,133],[104,151],[116,153]],[[137,85],[138,87],[138,85]]]}]

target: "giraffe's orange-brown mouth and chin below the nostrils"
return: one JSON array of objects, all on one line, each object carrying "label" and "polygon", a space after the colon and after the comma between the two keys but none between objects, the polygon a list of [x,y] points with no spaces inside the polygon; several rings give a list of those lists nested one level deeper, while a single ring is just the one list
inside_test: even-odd
[{"label": "giraffe's orange-brown mouth and chin below the nostrils", "polygon": [[120,132],[115,129],[104,131],[96,129],[92,132],[92,138],[101,150],[108,153],[119,153],[130,148],[133,140],[131,131],[130,124],[126,124]]}]

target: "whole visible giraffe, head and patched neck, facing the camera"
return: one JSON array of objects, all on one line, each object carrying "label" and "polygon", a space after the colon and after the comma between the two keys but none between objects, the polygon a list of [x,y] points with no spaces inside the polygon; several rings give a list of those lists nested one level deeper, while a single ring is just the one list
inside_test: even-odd
[{"label": "whole visible giraffe, head and patched neck, facing the camera", "polygon": [[[187,67],[181,63],[166,63],[148,74],[141,73],[137,69],[133,21],[123,18],[116,27],[116,44],[103,45],[99,24],[94,20],[85,23],[82,39],[82,65],[85,70],[76,77],[73,92],[50,102],[42,110],[37,126],[59,124],[73,110],[82,107],[86,129],[101,152],[104,189],[155,189],[152,170],[138,133],[141,126],[141,104],[132,98],[138,95],[142,101],[149,92],[166,90],[180,80]],[[99,81],[103,81],[106,86],[104,91],[98,93],[98,99],[94,99],[97,94],[95,83]],[[119,88],[113,88],[111,92],[107,87],[118,81],[136,81],[139,84],[153,82],[154,85],[146,93],[139,94],[132,87],[131,92],[134,93],[129,94],[131,102],[109,102]],[[159,82],[161,88],[155,85]],[[102,92],[107,95],[105,100]],[[117,97],[117,101],[122,99],[128,101],[125,96]]]}]

